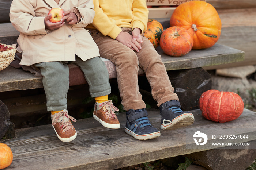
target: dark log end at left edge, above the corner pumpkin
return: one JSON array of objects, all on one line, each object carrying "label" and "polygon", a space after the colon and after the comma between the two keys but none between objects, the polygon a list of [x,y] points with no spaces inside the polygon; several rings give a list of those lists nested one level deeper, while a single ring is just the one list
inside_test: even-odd
[{"label": "dark log end at left edge, above the corner pumpkin", "polygon": [[[10,113],[8,111],[7,106],[0,100],[0,139],[5,136],[5,133],[9,130],[9,127],[11,126],[12,130],[9,131],[14,133],[14,124],[10,121]],[[15,133],[14,133],[15,135]],[[15,138],[15,136],[14,136]]]}]

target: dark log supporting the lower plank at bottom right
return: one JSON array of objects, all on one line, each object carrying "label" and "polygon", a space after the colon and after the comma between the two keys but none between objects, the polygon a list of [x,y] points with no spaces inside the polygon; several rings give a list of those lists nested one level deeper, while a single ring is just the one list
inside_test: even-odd
[{"label": "dark log supporting the lower plank at bottom right", "polygon": [[245,170],[256,158],[256,149],[212,149],[184,156],[208,170]]}]

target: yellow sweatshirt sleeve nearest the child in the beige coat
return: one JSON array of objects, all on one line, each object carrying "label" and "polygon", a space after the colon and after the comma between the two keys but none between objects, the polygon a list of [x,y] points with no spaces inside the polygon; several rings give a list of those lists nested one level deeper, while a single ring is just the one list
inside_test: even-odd
[{"label": "yellow sweatshirt sleeve nearest the child in the beige coat", "polygon": [[94,3],[94,11],[97,15],[95,15],[93,20],[93,26],[99,30],[103,35],[110,36],[113,39],[120,34],[122,31],[116,25],[116,21],[114,19],[109,18],[103,10],[99,7],[99,0],[93,0]]}]

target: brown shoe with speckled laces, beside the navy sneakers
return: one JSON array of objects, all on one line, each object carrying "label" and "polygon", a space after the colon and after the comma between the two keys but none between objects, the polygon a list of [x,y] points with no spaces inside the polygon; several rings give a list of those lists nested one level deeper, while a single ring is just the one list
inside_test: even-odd
[{"label": "brown shoe with speckled laces, beside the navy sneakers", "polygon": [[117,119],[115,111],[119,111],[111,100],[103,103],[95,103],[93,117],[103,126],[110,129],[120,128],[120,123]]}]

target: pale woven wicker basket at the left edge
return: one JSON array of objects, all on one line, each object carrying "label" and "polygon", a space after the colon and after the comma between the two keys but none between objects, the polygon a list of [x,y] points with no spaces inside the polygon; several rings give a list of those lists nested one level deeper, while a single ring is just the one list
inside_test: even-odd
[{"label": "pale woven wicker basket at the left edge", "polygon": [[16,53],[16,49],[14,48],[14,46],[10,46],[7,44],[1,45],[7,46],[8,48],[13,47],[13,49],[0,52],[0,71],[5,69],[14,60],[14,56]]}]

